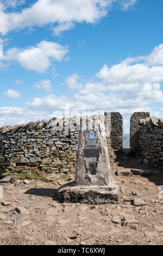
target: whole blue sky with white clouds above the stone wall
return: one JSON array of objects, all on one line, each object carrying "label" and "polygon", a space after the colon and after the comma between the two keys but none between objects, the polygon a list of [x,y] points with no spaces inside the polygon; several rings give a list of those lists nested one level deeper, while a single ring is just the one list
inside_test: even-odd
[{"label": "whole blue sky with white clouds above the stone wall", "polygon": [[[163,118],[162,0],[0,0],[0,125],[119,111]],[[3,46],[3,54],[2,54]]]}]

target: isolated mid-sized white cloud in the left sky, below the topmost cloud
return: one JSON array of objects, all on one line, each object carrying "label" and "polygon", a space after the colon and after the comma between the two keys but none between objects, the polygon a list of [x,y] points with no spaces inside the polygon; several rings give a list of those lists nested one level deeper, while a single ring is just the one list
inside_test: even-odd
[{"label": "isolated mid-sized white cloud in the left sky, below the topmost cloud", "polygon": [[0,60],[18,62],[24,69],[43,73],[55,61],[65,60],[67,52],[67,46],[43,40],[36,46],[30,46],[26,49],[10,48]]}]

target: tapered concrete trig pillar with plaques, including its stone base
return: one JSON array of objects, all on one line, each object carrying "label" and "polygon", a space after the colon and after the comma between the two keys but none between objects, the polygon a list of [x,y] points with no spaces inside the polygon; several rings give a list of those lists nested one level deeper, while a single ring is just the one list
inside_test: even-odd
[{"label": "tapered concrete trig pillar with plaques, including its stone base", "polygon": [[76,167],[76,180],[60,187],[65,202],[87,204],[117,203],[119,190],[110,170],[104,115],[82,117]]}]

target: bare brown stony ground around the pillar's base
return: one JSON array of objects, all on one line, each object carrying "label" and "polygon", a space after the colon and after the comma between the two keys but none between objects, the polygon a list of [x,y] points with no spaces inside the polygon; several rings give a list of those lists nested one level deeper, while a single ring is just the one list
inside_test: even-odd
[{"label": "bare brown stony ground around the pillar's base", "polygon": [[1,183],[0,245],[162,245],[163,173],[135,154],[112,152],[110,161],[118,204],[59,203],[57,190],[72,174]]}]

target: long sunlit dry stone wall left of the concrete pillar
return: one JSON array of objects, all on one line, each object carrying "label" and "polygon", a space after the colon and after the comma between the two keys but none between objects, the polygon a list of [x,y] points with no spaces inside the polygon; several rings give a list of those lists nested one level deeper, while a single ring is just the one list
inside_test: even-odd
[{"label": "long sunlit dry stone wall left of the concrete pillar", "polygon": [[[79,131],[75,130],[76,124],[74,129],[65,131],[59,129],[59,123],[55,126],[55,122],[55,119],[36,122],[39,129],[36,123],[16,126],[14,130],[3,127],[0,131],[1,173],[4,170],[13,173],[36,170],[47,173],[74,172]],[[54,128],[51,127],[52,123]]]}]

